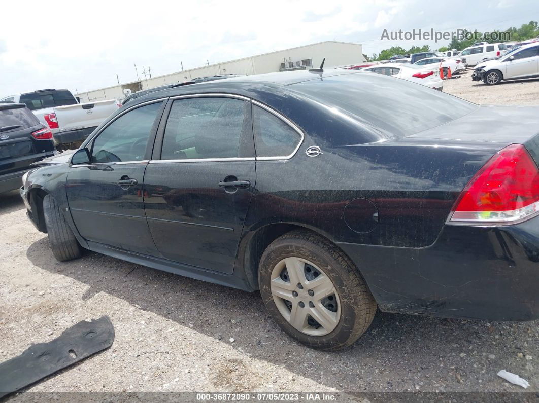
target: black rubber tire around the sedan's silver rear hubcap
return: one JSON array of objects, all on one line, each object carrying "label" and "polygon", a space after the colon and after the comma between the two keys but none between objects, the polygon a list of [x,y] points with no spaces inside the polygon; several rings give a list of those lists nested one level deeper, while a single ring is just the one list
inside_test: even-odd
[{"label": "black rubber tire around the sedan's silver rear hubcap", "polygon": [[[323,268],[333,282],[340,300],[340,318],[330,333],[313,336],[296,330],[275,305],[271,273],[287,257],[311,261]],[[291,231],[269,244],[260,259],[259,286],[273,320],[295,340],[316,349],[335,351],[348,347],[368,329],[376,313],[376,301],[353,261],[326,238],[310,231]]]}]

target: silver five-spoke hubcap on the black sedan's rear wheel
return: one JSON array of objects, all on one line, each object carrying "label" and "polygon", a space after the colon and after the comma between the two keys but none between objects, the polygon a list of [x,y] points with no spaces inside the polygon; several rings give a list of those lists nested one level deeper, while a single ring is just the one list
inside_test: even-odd
[{"label": "silver five-spoke hubcap on the black sedan's rear wheel", "polygon": [[273,268],[270,288],[277,309],[296,330],[323,336],[337,327],[341,317],[337,289],[312,262],[282,259]]}]

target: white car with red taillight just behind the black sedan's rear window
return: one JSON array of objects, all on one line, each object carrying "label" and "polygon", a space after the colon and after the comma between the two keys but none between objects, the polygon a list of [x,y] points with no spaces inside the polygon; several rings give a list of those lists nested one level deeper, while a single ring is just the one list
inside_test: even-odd
[{"label": "white car with red taillight just behind the black sedan's rear window", "polygon": [[437,67],[425,68],[423,66],[412,65],[411,63],[395,63],[391,66],[372,66],[361,69],[359,72],[391,75],[393,77],[398,77],[399,79],[416,82],[440,91],[444,89],[444,82],[440,79],[440,73]]}]

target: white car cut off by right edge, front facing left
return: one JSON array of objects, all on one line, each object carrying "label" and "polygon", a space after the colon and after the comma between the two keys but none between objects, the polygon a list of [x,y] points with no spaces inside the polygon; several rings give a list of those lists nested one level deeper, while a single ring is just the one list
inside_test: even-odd
[{"label": "white car cut off by right edge, front facing left", "polygon": [[539,77],[539,42],[523,45],[501,58],[479,63],[473,81],[493,86],[503,80]]}]

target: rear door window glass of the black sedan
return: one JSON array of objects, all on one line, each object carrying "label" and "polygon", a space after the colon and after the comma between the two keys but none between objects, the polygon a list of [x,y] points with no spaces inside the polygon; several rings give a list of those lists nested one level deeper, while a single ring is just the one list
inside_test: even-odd
[{"label": "rear door window glass of the black sedan", "polygon": [[246,127],[244,101],[209,97],[176,100],[167,119],[161,159],[239,157]]}]

